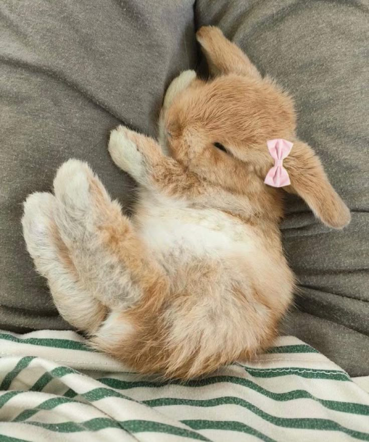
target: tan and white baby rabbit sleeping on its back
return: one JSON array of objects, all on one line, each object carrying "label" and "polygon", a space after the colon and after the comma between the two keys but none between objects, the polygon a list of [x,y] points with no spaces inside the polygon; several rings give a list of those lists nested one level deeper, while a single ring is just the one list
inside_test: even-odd
[{"label": "tan and white baby rabbit sleeping on its back", "polygon": [[285,191],[328,226],[350,220],[296,138],[292,99],[219,29],[201,28],[197,39],[214,78],[186,71],[173,80],[160,144],[124,126],[111,132],[114,163],[139,185],[133,215],[86,163],[70,160],[55,196],[30,195],[22,221],[63,318],[131,369],[180,379],[266,349],[291,303],[278,227],[284,191],[264,183],[274,163],[267,141],[293,143]]}]

